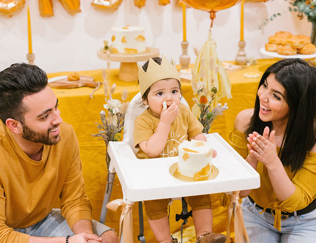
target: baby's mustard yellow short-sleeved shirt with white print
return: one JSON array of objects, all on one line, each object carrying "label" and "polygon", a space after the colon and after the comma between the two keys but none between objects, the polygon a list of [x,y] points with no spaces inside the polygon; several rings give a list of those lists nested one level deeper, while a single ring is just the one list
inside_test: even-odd
[{"label": "baby's mustard yellow short-sleeved shirt with white print", "polygon": [[[203,130],[203,125],[194,117],[188,106],[181,104],[179,110],[179,115],[171,124],[166,145],[158,157],[177,156],[178,145],[184,140],[198,135]],[[149,158],[138,144],[148,140],[156,132],[159,121],[150,108],[135,119],[133,137],[135,148],[139,148],[138,158]]]}]

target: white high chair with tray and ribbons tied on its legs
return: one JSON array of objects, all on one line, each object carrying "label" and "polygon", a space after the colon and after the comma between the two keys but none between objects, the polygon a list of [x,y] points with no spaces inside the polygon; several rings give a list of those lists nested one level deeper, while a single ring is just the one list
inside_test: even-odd
[{"label": "white high chair with tray and ribbons tied on its legs", "polygon": [[[184,98],[181,99],[181,102],[188,105]],[[169,168],[177,162],[177,156],[138,159],[135,155],[137,150],[134,148],[133,130],[136,117],[145,109],[145,107],[141,108],[140,104],[141,97],[138,93],[130,102],[125,114],[123,141],[110,141],[108,145],[108,154],[111,158],[109,172],[116,172],[118,175],[123,199],[116,199],[109,203],[108,199],[105,200],[102,211],[106,205],[112,210],[123,206],[120,239],[122,239],[123,233],[124,242],[133,242],[132,208],[135,202],[226,192],[234,195],[229,203],[229,213],[231,214],[235,208],[239,207],[238,200],[235,199],[239,197],[239,191],[260,187],[259,174],[217,133],[206,134],[208,141],[217,151],[217,156],[212,159],[212,164],[219,170],[219,174],[213,180],[184,182],[176,179],[169,173]],[[141,203],[139,207],[141,207]],[[142,211],[142,208],[139,211]],[[241,209],[236,213],[240,215]],[[142,215],[140,215],[140,220],[142,220],[141,217]],[[235,224],[241,221],[244,225],[242,216],[239,217],[239,220],[235,217]],[[236,243],[239,239],[247,238],[245,227],[238,228],[240,234],[235,230]],[[230,239],[229,236],[228,239]],[[139,237],[139,240],[142,243],[145,242],[144,238]]]}]

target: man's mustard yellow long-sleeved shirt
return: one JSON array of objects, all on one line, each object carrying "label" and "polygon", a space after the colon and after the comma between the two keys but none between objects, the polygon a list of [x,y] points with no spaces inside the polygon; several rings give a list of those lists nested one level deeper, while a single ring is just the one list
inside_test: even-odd
[{"label": "man's mustard yellow long-sleeved shirt", "polygon": [[28,242],[29,235],[13,228],[38,223],[58,198],[70,228],[78,220],[92,220],[78,140],[71,125],[62,123],[59,128],[60,141],[44,145],[42,159],[35,161],[0,121],[0,242]]}]

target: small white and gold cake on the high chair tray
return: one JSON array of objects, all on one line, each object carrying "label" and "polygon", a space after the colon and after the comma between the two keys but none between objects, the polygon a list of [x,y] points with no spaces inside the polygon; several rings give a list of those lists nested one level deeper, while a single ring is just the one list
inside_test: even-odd
[{"label": "small white and gold cake on the high chair tray", "polygon": [[212,171],[213,148],[210,143],[191,140],[178,146],[177,171],[191,178],[206,177]]}]

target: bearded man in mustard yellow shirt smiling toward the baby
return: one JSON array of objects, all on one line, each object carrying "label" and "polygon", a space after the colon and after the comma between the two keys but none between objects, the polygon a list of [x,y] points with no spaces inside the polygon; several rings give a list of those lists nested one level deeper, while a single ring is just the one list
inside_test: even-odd
[{"label": "bearded man in mustard yellow shirt smiling toward the baby", "polygon": [[92,221],[78,140],[47,84],[35,65],[0,72],[0,242],[118,242]]}]

